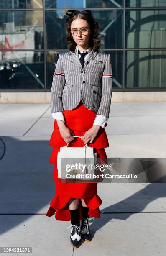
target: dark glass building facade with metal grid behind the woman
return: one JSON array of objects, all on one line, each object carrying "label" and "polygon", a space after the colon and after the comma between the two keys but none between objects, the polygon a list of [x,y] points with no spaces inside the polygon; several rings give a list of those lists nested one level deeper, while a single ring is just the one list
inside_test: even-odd
[{"label": "dark glass building facade with metal grid behind the woman", "polygon": [[166,91],[166,0],[0,0],[0,91],[50,92],[66,10],[89,9],[113,91]]}]

